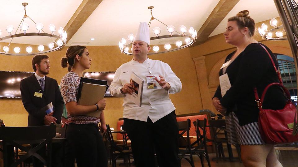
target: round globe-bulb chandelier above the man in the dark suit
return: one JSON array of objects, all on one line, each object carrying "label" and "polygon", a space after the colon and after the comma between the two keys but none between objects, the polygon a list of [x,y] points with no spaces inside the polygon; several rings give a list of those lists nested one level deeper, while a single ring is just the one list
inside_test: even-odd
[{"label": "round globe-bulb chandelier above the man in the dark suit", "polygon": [[[34,54],[44,54],[44,53],[48,53],[48,52],[52,52],[58,49],[61,49],[65,44],[66,44],[66,38],[67,38],[67,33],[66,31],[63,31],[63,28],[60,27],[60,29],[58,30],[59,35],[55,35],[54,32],[56,31],[56,27],[54,24],[50,24],[49,25],[49,29],[50,29],[50,33],[47,33],[45,31],[43,31],[43,24],[42,23],[35,23],[28,15],[26,15],[26,6],[28,5],[28,3],[22,3],[22,5],[24,6],[24,10],[25,10],[25,15],[22,18],[19,27],[17,27],[16,32],[13,34],[13,30],[14,27],[13,25],[8,25],[6,27],[6,32],[9,33],[9,35],[7,36],[3,36],[1,37],[1,33],[0,33],[0,42],[6,42],[4,40],[7,39],[11,39],[8,46],[4,46],[3,50],[0,50],[0,54],[5,54],[5,55],[18,55],[18,56],[28,56],[28,55],[34,55]],[[35,24],[35,28],[37,30],[37,32],[27,32],[27,30],[29,29],[29,24],[27,24],[25,22],[25,19],[29,18],[27,20],[31,20],[34,24]],[[23,30],[24,33],[19,33],[17,34],[18,30]],[[1,32],[1,30],[0,30]],[[11,42],[13,40],[13,38],[16,37],[21,37],[21,36],[47,36],[49,37],[49,49],[48,50],[44,50],[44,45],[39,45],[38,46],[38,51],[39,52],[34,52],[32,53],[32,51],[37,50],[37,49],[33,49],[34,47],[36,48],[36,46],[28,46],[25,51],[20,50],[20,47],[15,47],[13,49],[14,52],[9,52],[9,46],[11,45]],[[53,40],[52,38],[56,38],[56,40]]]}]

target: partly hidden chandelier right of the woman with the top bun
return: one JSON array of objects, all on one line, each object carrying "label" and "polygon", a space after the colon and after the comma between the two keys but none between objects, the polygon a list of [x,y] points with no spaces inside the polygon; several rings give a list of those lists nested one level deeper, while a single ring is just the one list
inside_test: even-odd
[{"label": "partly hidden chandelier right of the woman with the top bun", "polygon": [[[269,24],[273,26],[272,29],[267,30],[268,26],[266,24],[262,24],[261,27],[258,28],[259,34],[262,37],[262,39],[267,39],[267,40],[286,40],[288,39],[287,37],[283,37],[285,35],[284,29],[280,31],[281,28],[283,28],[283,25],[278,26],[278,21],[277,19],[273,18],[270,20]],[[279,30],[279,31],[277,31]],[[275,34],[276,37],[273,37],[272,35]]]}]

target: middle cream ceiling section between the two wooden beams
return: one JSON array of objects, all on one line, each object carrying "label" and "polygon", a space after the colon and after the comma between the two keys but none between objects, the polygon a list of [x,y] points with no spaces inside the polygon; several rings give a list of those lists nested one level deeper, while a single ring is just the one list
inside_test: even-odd
[{"label": "middle cream ceiling section between the two wooden beams", "polygon": [[[136,33],[140,22],[149,22],[153,17],[176,29],[185,25],[200,28],[219,0],[103,0],[86,22],[79,28],[67,45],[118,45],[122,37]],[[198,7],[200,6],[200,7]],[[160,35],[168,34],[166,26],[153,20],[150,28],[160,27]],[[151,31],[151,36],[154,34]],[[90,41],[90,38],[95,38]],[[79,43],[76,43],[79,42]]]}]

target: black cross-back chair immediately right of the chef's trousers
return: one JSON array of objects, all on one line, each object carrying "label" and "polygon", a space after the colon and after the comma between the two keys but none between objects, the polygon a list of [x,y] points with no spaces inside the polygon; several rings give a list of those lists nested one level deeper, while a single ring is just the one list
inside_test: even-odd
[{"label": "black cross-back chair immediately right of the chef's trousers", "polygon": [[[190,130],[190,119],[187,119],[187,121],[180,121],[178,122],[179,131],[182,131],[179,133],[179,153],[178,158],[180,160],[180,166],[181,166],[181,160],[185,159],[187,162],[189,162],[192,167],[194,167],[194,162],[192,158],[192,149],[191,149],[191,143],[189,138],[189,130]],[[186,138],[184,137],[186,133]],[[183,143],[183,144],[182,144]]]}]

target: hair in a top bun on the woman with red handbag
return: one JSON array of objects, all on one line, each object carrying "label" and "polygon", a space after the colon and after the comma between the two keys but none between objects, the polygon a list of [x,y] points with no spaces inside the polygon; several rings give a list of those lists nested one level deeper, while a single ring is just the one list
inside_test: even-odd
[{"label": "hair in a top bun on the woman with red handbag", "polygon": [[251,37],[255,34],[255,20],[248,15],[249,11],[244,10],[237,13],[236,16],[230,17],[228,21],[236,21],[239,29],[247,27],[249,30],[249,36]]}]

